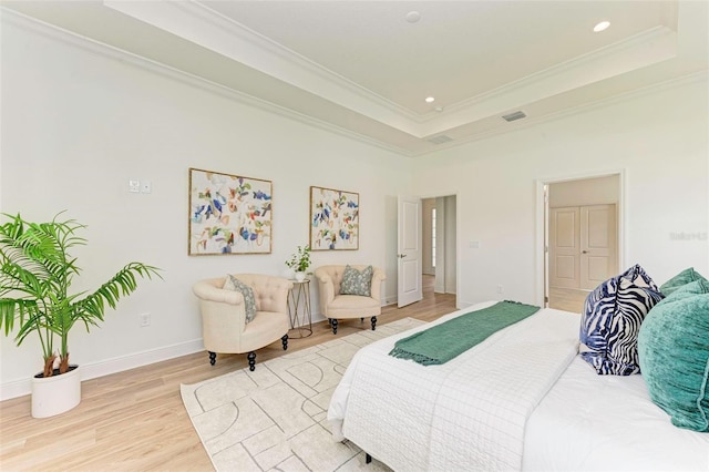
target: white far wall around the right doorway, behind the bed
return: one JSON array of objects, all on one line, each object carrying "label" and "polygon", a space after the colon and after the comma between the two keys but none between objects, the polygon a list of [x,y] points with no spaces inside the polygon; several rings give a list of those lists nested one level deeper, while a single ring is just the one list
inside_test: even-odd
[{"label": "white far wall around the right doorway, behind the bed", "polygon": [[639,263],[658,284],[689,266],[708,276],[708,89],[706,75],[691,78],[415,158],[418,194],[458,193],[459,305],[540,304],[537,181],[619,170],[625,265]]}]

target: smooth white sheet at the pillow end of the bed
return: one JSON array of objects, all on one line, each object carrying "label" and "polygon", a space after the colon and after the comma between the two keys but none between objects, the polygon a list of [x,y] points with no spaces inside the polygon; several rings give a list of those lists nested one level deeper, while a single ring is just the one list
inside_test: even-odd
[{"label": "smooth white sheet at the pillow end of the bed", "polygon": [[598,376],[576,357],[530,420],[530,471],[709,471],[709,433],[670,423],[641,376]]}]

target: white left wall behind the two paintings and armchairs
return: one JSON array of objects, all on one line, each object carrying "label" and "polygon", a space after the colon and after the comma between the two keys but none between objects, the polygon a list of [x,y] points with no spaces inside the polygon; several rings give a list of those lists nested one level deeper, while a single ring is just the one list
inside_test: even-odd
[{"label": "white left wall behind the two paintings and armchairs", "polygon": [[[411,160],[40,32],[2,24],[1,212],[44,220],[66,209],[89,226],[89,246],[74,253],[84,269],[76,290],[95,289],[131,260],[165,278],[141,283],[90,335],[74,330],[74,362],[95,376],[201,350],[192,284],[282,274],[308,243],[310,185],[358,192],[361,204],[360,249],[314,253],[314,266],[384,267],[384,297],[395,298],[395,196],[409,193]],[[187,256],[188,167],[273,181],[273,254]],[[129,193],[130,178],[150,179],[152,194]],[[315,289],[311,298],[317,315]],[[0,342],[8,398],[42,362],[34,339]]]}]

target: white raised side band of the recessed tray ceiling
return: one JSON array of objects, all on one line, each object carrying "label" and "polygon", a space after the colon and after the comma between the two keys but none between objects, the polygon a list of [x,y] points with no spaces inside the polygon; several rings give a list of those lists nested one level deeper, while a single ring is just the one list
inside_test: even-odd
[{"label": "white raised side band of the recessed tray ceiling", "polygon": [[443,112],[419,115],[196,1],[105,0],[104,4],[417,138],[499,116],[677,54],[677,33],[657,27],[448,106]]}]

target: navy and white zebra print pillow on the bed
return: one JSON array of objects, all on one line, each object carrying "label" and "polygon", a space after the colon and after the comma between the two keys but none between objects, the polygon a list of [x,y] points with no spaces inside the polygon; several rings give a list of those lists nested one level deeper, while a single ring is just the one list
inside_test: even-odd
[{"label": "navy and white zebra print pillow on the bed", "polygon": [[599,374],[640,371],[638,332],[647,312],[662,299],[650,276],[635,265],[588,294],[580,322],[582,358]]}]

